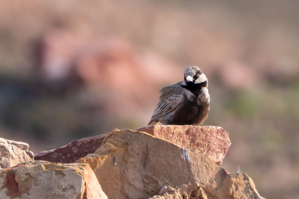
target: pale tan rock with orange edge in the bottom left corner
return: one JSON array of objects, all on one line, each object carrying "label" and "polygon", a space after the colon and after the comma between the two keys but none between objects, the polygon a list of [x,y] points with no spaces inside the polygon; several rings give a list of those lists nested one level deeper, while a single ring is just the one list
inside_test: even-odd
[{"label": "pale tan rock with orange edge in the bottom left corner", "polygon": [[107,198],[87,164],[31,161],[0,173],[0,198]]}]

